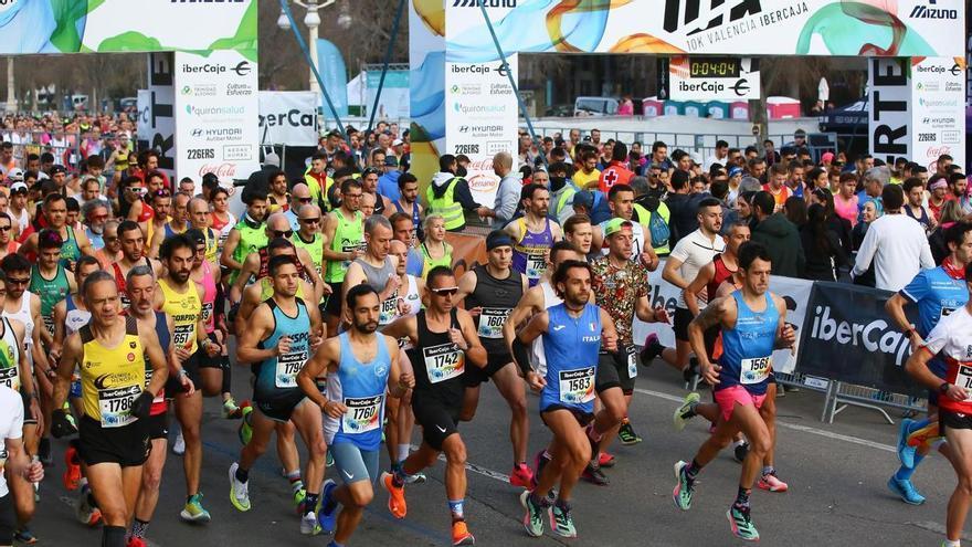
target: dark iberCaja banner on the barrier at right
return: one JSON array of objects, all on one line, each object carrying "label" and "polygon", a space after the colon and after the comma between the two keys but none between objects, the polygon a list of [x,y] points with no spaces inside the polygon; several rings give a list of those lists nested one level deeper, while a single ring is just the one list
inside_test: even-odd
[{"label": "dark iberCaja banner on the barrier at right", "polygon": [[922,392],[905,374],[910,341],[885,312],[891,294],[858,285],[814,283],[800,339],[800,372],[895,393]]}]

